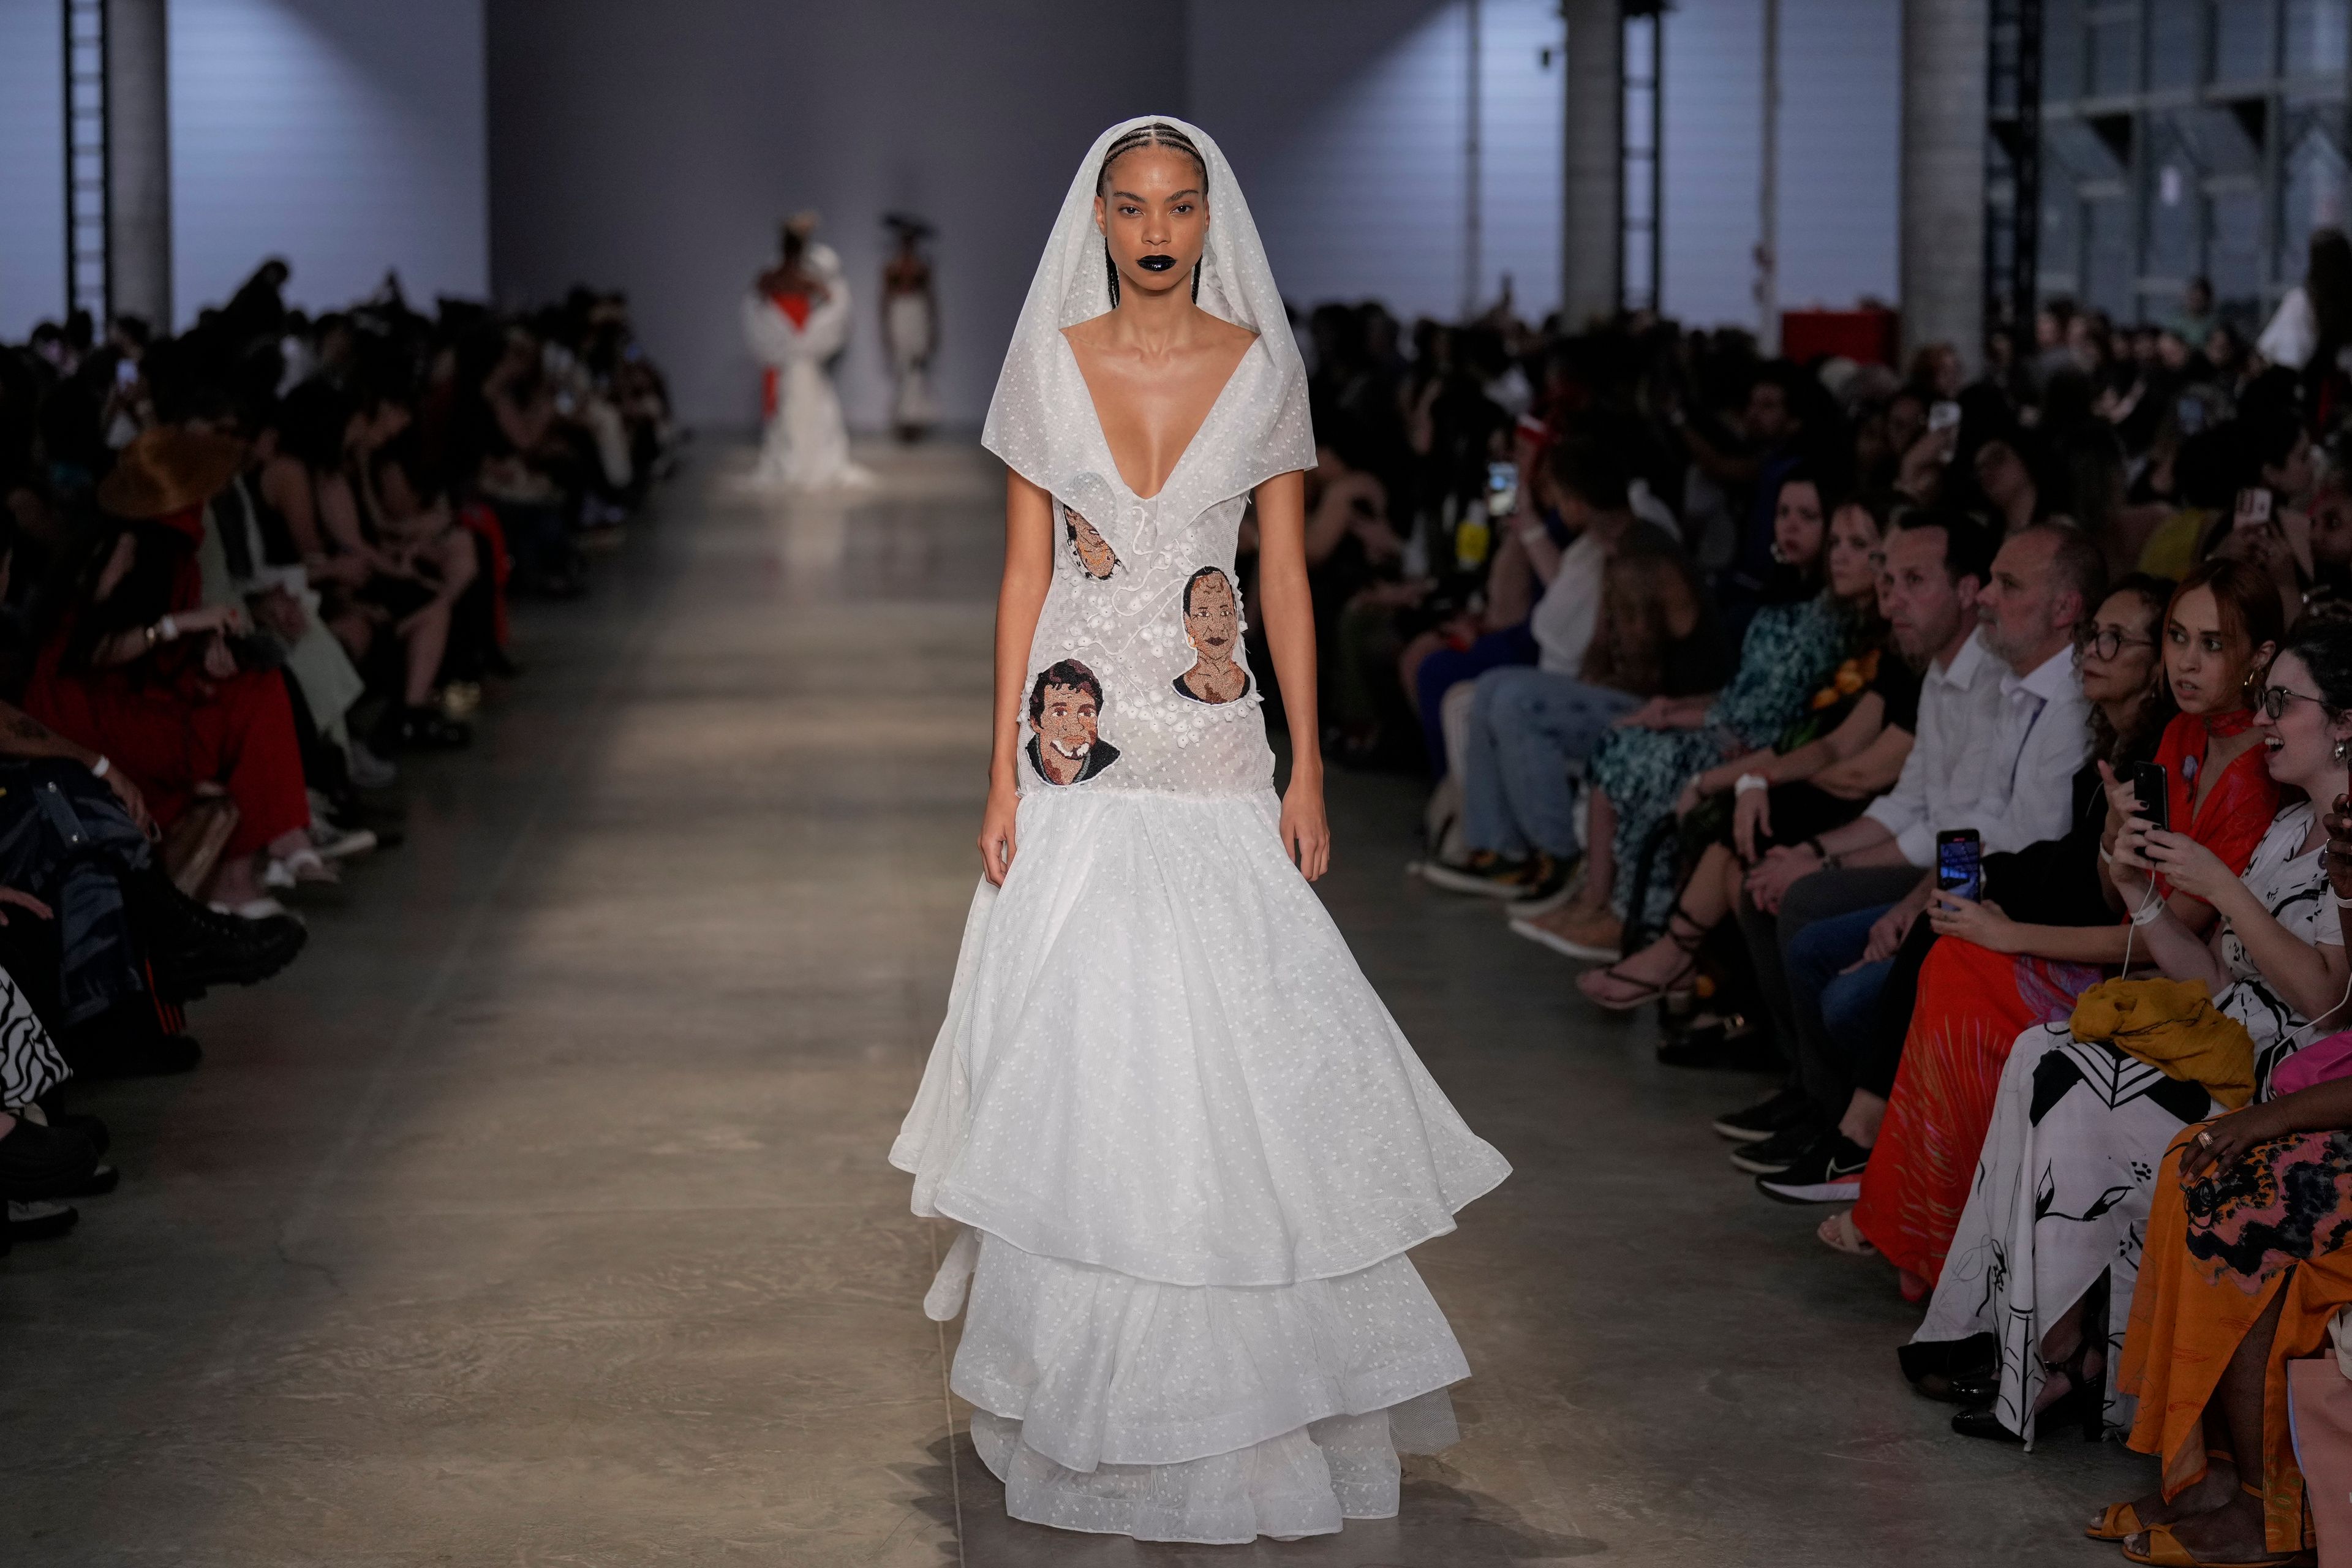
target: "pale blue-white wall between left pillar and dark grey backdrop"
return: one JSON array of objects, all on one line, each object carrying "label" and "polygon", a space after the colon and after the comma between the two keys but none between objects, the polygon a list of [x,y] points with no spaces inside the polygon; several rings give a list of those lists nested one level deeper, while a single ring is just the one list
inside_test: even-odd
[{"label": "pale blue-white wall between left pillar and dark grey backdrop", "polygon": [[266,254],[313,310],[489,294],[482,0],[172,0],[169,42],[181,324]]}]

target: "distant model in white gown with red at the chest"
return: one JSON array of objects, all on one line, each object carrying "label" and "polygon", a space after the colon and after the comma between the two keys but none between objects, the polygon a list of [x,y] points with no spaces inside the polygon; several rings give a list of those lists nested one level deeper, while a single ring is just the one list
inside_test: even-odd
[{"label": "distant model in white gown with red at the chest", "polygon": [[753,477],[776,489],[866,487],[873,473],[849,461],[833,390],[833,357],[849,341],[849,284],[842,259],[814,235],[814,212],[786,221],[783,261],[743,299],[743,336],[767,367],[767,435]]}]

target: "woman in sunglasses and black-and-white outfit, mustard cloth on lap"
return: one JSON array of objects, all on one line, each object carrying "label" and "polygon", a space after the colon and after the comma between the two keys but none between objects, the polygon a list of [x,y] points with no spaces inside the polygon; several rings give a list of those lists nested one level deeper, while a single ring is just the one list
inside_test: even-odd
[{"label": "woman in sunglasses and black-and-white outfit, mustard cloth on lap", "polygon": [[[2032,1441],[2044,1422],[2133,1422],[2114,1349],[2164,1150],[2213,1103],[2272,1098],[2307,1025],[2345,994],[2312,802],[2343,792],[2347,710],[2352,628],[2291,635],[2253,719],[2286,804],[2241,877],[2187,832],[2129,813],[2129,785],[2110,785],[2110,879],[2133,950],[2164,978],[2093,987],[2072,1020],[2030,1025],[2009,1053],[1943,1279],[1905,1347],[1915,1380],[1938,1373],[1985,1396],[1955,1432]],[[2173,914],[2157,877],[2220,914],[2209,936]]]}]

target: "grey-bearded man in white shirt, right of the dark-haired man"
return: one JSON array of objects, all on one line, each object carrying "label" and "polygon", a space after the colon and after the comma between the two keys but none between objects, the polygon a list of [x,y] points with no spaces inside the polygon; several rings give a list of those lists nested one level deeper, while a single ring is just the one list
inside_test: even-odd
[{"label": "grey-bearded man in white shirt, right of the dark-haired man", "polygon": [[[1915,571],[1922,545],[1903,543],[1907,534],[1889,541],[1889,571]],[[1762,914],[1778,903],[1778,976],[1766,978],[1766,999],[1795,1041],[1813,1117],[1839,1119],[1811,1150],[1799,1152],[1802,1135],[1790,1135],[1733,1157],[1769,1197],[1837,1201],[1860,1187],[1884,1100],[1856,1095],[1851,1048],[1835,1041],[1870,1030],[1893,954],[1933,896],[1936,835],[1973,827],[1985,853],[2065,835],[2072,778],[2091,750],[2072,635],[2103,588],[2105,562],[2079,529],[2011,534],[1976,595],[1980,628],[1931,665],[1919,738],[1896,788],[1853,823],[1771,851],[1750,877],[1752,952],[1764,952]],[[1907,651],[1922,625],[1912,616],[1905,637],[1905,611],[1919,595],[1905,599],[1898,583],[1893,597]]]}]

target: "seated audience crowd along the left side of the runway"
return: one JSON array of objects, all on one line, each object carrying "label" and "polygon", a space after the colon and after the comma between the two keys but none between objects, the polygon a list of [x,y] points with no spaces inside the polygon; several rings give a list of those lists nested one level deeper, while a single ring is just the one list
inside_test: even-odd
[{"label": "seated audience crowd along the left side of the runway", "polygon": [[68,1098],[198,1065],[188,1004],[397,849],[405,773],[522,675],[510,602],[586,592],[675,461],[619,294],[287,282],[0,346],[0,1253],[118,1185]]}]

